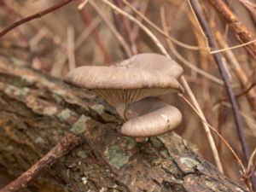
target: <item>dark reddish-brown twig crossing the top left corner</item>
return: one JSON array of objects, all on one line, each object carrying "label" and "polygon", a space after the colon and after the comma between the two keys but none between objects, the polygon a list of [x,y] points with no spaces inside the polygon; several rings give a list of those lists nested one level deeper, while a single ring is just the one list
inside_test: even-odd
[{"label": "dark reddish-brown twig crossing the top left corner", "polygon": [[41,18],[44,15],[49,14],[50,12],[55,11],[56,9],[60,9],[61,7],[63,7],[64,5],[66,5],[67,3],[72,2],[73,0],[63,0],[60,3],[55,4],[54,6],[48,8],[48,9],[44,9],[43,11],[38,12],[35,15],[30,15],[22,20],[18,20],[17,22],[15,22],[14,24],[12,24],[11,26],[8,26],[7,28],[5,28],[2,32],[0,32],[0,38],[2,38],[6,33],[10,32],[11,30],[15,29],[15,27],[20,26],[30,20],[34,20],[37,18]]}]

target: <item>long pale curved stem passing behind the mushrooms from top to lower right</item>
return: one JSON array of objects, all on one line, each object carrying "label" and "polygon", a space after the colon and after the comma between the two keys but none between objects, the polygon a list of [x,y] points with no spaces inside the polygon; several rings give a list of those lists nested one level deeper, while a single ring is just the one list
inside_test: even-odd
[{"label": "long pale curved stem passing behind the mushrooms from top to lower right", "polygon": [[[168,54],[168,52],[166,51],[165,47],[163,46],[163,44],[160,43],[159,39],[156,38],[154,36],[154,34],[148,29],[147,26],[144,26],[142,22],[140,22],[139,20],[137,20],[136,18],[134,18],[133,16],[127,14],[125,11],[123,11],[122,9],[119,9],[117,6],[115,6],[113,3],[109,2],[108,0],[102,0],[103,3],[106,3],[110,8],[114,9],[115,11],[119,12],[120,15],[124,15],[126,18],[128,18],[129,20],[135,22],[138,26],[140,26],[143,31],[145,33],[148,34],[148,36],[154,41],[154,44],[156,44],[158,46],[158,48],[160,49],[160,51],[162,52],[163,55],[166,55],[166,57],[168,58],[171,58],[171,56]],[[202,113],[201,111],[201,108],[198,104],[198,102],[196,101],[195,99],[195,96],[192,92],[192,90],[190,89],[189,87],[189,84],[187,83],[187,80],[182,76],[181,77],[181,80],[183,82],[183,85],[184,85],[184,88],[185,90],[187,90],[188,94],[189,94],[189,97],[191,98],[193,104],[195,105],[195,108],[201,112],[201,116],[205,118],[204,114]],[[202,123],[207,127],[208,125],[205,124],[204,121],[202,121]],[[209,130],[209,128],[207,128]],[[211,132],[209,133],[211,134]],[[214,146],[211,146],[212,150],[214,150],[214,148],[216,148],[215,146],[215,143],[213,141],[213,143],[210,143],[210,144],[213,144]],[[217,149],[216,149],[217,150]],[[218,155],[218,151],[215,151],[213,152],[214,155]],[[219,160],[219,157],[218,157],[218,160]],[[221,165],[220,162],[216,162],[216,165]],[[222,169],[222,166],[218,166],[218,170],[219,172],[223,172],[223,169]]]}]

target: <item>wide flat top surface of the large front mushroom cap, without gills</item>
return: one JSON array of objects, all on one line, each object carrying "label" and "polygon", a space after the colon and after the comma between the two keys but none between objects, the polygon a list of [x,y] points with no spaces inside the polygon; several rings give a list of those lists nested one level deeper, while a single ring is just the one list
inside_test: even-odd
[{"label": "wide flat top surface of the large front mushroom cap, without gills", "polygon": [[90,90],[182,90],[181,85],[173,77],[153,70],[127,67],[78,67],[67,74],[65,81]]}]

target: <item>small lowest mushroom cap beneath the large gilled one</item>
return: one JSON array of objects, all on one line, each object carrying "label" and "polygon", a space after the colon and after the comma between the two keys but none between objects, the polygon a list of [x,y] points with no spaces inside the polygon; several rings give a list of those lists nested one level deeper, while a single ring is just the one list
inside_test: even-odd
[{"label": "small lowest mushroom cap beneath the large gilled one", "polygon": [[[129,110],[130,115],[127,114]],[[173,130],[182,121],[182,114],[177,108],[156,97],[145,98],[131,104],[125,110],[125,117],[131,119],[125,122],[120,132],[129,137],[159,136]]]}]

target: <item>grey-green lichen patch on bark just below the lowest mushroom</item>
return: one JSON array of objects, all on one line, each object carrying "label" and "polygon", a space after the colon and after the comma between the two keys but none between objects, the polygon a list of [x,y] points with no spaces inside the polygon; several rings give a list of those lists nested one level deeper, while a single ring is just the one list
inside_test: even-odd
[{"label": "grey-green lichen patch on bark just below the lowest mushroom", "polygon": [[107,148],[104,155],[107,157],[109,164],[116,169],[124,166],[131,157],[131,154],[123,152],[118,145],[113,145],[110,148]]}]

